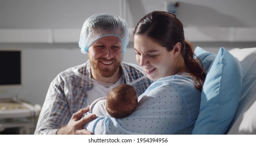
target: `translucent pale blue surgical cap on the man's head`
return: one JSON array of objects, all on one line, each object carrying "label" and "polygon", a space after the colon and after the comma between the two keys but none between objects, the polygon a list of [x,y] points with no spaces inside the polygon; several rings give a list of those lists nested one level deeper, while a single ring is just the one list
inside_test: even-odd
[{"label": "translucent pale blue surgical cap on the man's head", "polygon": [[78,42],[81,52],[87,53],[93,42],[105,36],[118,37],[122,42],[123,54],[125,53],[129,43],[127,22],[110,13],[97,13],[85,20]]}]

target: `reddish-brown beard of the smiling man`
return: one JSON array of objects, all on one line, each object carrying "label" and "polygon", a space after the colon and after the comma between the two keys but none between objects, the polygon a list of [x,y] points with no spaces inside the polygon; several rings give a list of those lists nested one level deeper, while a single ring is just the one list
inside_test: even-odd
[{"label": "reddish-brown beard of the smiling man", "polygon": [[[100,59],[100,60],[102,60],[102,59]],[[101,63],[99,60],[96,60],[96,61],[90,60],[92,69],[94,69],[96,71],[96,73],[103,78],[109,78],[115,74],[115,72],[119,68],[121,62],[120,61],[117,62],[116,60],[114,60],[114,62],[116,62],[116,65],[111,70],[110,68],[101,68],[99,66],[100,65],[99,63]]]}]

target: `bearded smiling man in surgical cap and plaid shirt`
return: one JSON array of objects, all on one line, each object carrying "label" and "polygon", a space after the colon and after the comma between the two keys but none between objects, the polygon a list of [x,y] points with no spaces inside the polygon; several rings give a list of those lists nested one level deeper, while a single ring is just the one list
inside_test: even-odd
[{"label": "bearded smiling man in surgical cap and plaid shirt", "polygon": [[89,60],[53,79],[35,134],[92,134],[83,125],[95,119],[95,114],[80,119],[92,101],[106,96],[119,84],[133,85],[141,95],[152,81],[140,67],[121,62],[128,42],[124,19],[107,13],[89,17],[79,40],[79,47],[88,53]]}]

